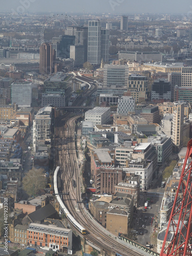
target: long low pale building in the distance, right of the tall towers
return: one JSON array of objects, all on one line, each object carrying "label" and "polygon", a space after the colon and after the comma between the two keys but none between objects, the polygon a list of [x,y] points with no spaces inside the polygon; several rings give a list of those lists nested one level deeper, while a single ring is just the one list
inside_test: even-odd
[{"label": "long low pale building in the distance, right of the tall towers", "polygon": [[133,52],[133,51],[119,51],[118,59],[126,59],[138,61],[138,62],[148,62],[148,61],[159,61],[162,62],[162,53],[160,52]]}]

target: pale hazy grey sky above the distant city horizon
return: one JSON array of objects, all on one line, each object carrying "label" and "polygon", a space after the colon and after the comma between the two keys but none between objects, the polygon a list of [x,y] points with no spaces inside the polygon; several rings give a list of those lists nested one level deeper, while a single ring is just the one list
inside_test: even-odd
[{"label": "pale hazy grey sky above the distant city horizon", "polygon": [[[192,16],[191,0],[0,0],[7,12],[182,13]],[[188,14],[187,14],[188,13]]]}]

